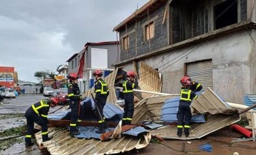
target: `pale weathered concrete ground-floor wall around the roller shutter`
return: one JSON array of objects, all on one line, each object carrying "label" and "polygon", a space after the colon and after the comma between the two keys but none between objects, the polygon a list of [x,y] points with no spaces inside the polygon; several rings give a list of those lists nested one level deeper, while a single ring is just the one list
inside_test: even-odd
[{"label": "pale weathered concrete ground-floor wall around the roller shutter", "polygon": [[[256,32],[252,33],[256,38]],[[222,98],[229,102],[243,103],[244,94],[256,94],[256,46],[246,30],[215,37],[202,46],[198,46],[200,43],[141,61],[153,68],[159,68],[159,72],[163,75],[163,92],[180,93],[180,78],[184,75],[185,63],[212,59],[213,90]],[[178,57],[179,61],[174,59],[184,52],[190,52],[189,49],[194,51],[182,59]],[[166,63],[167,65],[164,65]],[[122,66],[124,70],[130,70],[132,63]]]}]

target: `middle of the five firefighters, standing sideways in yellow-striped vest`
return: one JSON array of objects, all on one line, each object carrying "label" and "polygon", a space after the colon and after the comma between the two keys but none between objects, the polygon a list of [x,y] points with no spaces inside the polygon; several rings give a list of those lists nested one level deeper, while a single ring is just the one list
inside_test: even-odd
[{"label": "middle of the five firefighters, standing sideways in yellow-striped vest", "polygon": [[101,78],[102,72],[100,70],[93,72],[93,76],[95,76],[96,79],[94,86],[94,91],[96,93],[95,104],[97,104],[97,107],[99,108],[99,112],[96,110],[98,115],[99,130],[96,130],[95,132],[97,134],[102,134],[106,132],[105,129],[108,128],[103,114],[103,108],[106,105],[109,94],[108,84]]}]

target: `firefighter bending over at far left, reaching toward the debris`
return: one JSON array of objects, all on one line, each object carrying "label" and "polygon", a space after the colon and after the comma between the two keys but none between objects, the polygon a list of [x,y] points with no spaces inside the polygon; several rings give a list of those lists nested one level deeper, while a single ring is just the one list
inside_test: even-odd
[{"label": "firefighter bending over at far left, reaching toward the debris", "polygon": [[34,145],[31,141],[31,136],[34,130],[34,122],[41,126],[41,136],[44,141],[49,141],[48,137],[48,120],[47,114],[50,107],[55,107],[58,101],[54,98],[47,100],[41,100],[38,103],[34,103],[25,112],[25,118],[27,118],[27,134],[25,136],[25,147]]}]

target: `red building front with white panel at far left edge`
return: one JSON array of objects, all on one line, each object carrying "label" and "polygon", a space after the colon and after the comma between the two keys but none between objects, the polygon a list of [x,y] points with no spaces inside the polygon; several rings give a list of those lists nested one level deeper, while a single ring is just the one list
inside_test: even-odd
[{"label": "red building front with white panel at far left edge", "polygon": [[0,67],[0,86],[14,87],[14,67]]}]

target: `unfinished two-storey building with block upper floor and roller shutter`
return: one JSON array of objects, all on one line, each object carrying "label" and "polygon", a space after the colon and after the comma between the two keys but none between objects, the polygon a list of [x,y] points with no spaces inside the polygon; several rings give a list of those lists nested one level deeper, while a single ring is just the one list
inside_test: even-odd
[{"label": "unfinished two-storey building with block upper floor and roller shutter", "polygon": [[121,54],[115,67],[161,74],[162,92],[180,92],[185,74],[227,101],[255,94],[254,0],[148,1],[113,28]]}]

